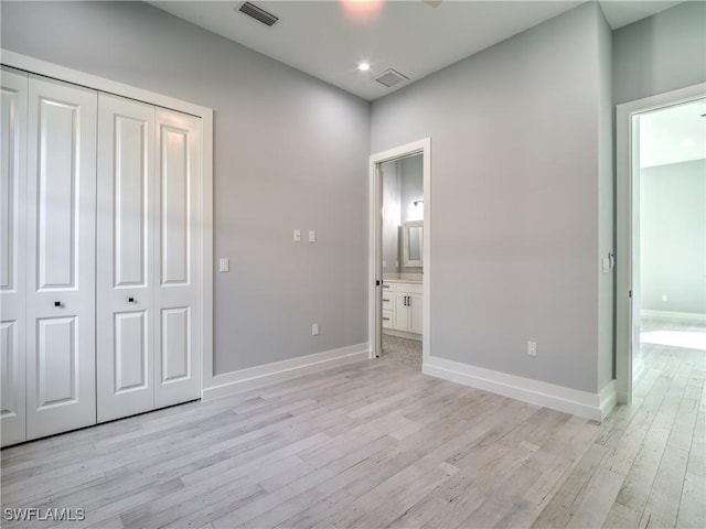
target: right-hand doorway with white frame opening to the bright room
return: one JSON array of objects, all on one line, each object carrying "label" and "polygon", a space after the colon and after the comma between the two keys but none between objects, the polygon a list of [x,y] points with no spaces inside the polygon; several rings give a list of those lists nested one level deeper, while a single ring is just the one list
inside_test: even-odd
[{"label": "right-hand doorway with white frame opening to the bright room", "polygon": [[[706,84],[617,109],[618,400],[706,359]],[[667,361],[668,360],[668,361]]]}]

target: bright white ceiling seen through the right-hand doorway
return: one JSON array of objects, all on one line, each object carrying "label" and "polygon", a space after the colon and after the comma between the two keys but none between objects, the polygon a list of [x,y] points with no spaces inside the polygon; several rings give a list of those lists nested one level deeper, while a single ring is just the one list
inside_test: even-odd
[{"label": "bright white ceiling seen through the right-hand doorway", "polygon": [[706,159],[706,98],[640,116],[640,166]]}]

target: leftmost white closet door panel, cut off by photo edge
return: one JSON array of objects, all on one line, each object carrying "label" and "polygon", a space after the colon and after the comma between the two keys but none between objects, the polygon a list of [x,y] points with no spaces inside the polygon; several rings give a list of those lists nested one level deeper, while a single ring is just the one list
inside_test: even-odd
[{"label": "leftmost white closet door panel, cut off by photo edge", "polygon": [[24,194],[28,75],[0,72],[0,431],[2,446],[25,439]]}]

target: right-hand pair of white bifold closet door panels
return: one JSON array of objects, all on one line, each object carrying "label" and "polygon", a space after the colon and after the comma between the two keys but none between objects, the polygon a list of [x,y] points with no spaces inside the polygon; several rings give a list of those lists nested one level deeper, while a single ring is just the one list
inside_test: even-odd
[{"label": "right-hand pair of white bifold closet door panels", "polygon": [[98,421],[197,399],[201,123],[100,95]]}]

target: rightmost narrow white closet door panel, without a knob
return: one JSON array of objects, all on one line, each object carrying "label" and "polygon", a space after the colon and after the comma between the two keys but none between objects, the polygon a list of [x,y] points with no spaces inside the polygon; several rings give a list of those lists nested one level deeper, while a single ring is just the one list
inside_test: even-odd
[{"label": "rightmost narrow white closet door panel, without a knob", "polygon": [[157,110],[154,403],[199,398],[201,121]]}]

